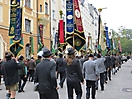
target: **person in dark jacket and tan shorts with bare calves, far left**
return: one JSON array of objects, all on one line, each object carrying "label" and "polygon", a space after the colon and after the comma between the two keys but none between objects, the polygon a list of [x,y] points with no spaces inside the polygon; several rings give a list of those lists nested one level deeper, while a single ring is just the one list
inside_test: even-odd
[{"label": "person in dark jacket and tan shorts with bare calves, far left", "polygon": [[2,63],[2,73],[7,90],[6,99],[15,99],[18,90],[18,82],[20,80],[18,69],[21,65],[16,58],[13,59],[10,52],[5,53],[5,61]]}]

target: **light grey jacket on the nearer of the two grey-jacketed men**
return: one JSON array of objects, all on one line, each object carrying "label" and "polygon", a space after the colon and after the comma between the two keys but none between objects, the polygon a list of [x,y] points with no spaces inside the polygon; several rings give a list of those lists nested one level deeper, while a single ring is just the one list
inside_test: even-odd
[{"label": "light grey jacket on the nearer of the two grey-jacketed men", "polygon": [[96,81],[99,77],[98,67],[93,60],[88,60],[83,64],[83,75],[85,80]]}]

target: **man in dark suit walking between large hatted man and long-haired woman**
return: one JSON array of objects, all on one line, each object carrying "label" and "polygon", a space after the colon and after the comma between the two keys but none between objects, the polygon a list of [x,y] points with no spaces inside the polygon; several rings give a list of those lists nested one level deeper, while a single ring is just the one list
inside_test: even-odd
[{"label": "man in dark suit walking between large hatted man and long-haired woman", "polygon": [[59,58],[56,60],[56,70],[58,74],[60,74],[60,87],[63,88],[63,83],[65,81],[66,73],[65,73],[65,66],[64,66],[64,58],[63,55],[60,53]]}]

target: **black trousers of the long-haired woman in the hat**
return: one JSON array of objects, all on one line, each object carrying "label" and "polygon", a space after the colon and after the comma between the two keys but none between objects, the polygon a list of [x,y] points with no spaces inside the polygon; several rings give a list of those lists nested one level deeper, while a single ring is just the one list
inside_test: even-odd
[{"label": "black trousers of the long-haired woman in the hat", "polygon": [[68,91],[68,99],[74,99],[73,98],[73,89],[75,89],[76,93],[76,99],[81,99],[82,97],[82,88],[79,81],[70,82],[67,81],[67,91]]}]

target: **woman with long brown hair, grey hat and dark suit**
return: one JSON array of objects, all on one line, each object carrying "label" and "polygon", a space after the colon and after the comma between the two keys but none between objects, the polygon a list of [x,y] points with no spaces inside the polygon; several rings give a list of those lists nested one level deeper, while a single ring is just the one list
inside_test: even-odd
[{"label": "woman with long brown hair, grey hat and dark suit", "polygon": [[68,99],[73,98],[73,89],[75,89],[76,99],[81,99],[82,88],[80,82],[84,84],[84,79],[82,76],[79,60],[75,58],[75,51],[73,48],[68,48],[66,58],[66,74],[67,74],[67,91]]}]

